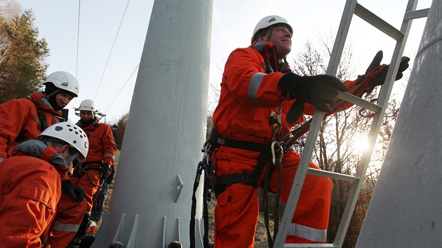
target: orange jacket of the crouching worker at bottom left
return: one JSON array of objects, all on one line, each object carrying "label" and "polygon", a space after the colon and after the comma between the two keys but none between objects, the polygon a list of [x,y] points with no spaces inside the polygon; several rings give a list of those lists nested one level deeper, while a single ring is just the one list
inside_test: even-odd
[{"label": "orange jacket of the crouching worker at bottom left", "polygon": [[68,168],[57,150],[41,141],[28,140],[18,150],[0,163],[0,246],[41,247]]}]

